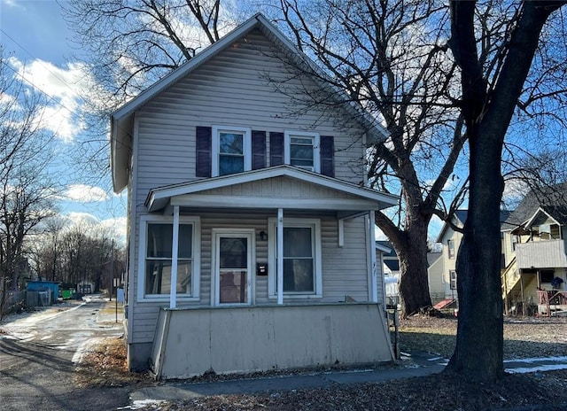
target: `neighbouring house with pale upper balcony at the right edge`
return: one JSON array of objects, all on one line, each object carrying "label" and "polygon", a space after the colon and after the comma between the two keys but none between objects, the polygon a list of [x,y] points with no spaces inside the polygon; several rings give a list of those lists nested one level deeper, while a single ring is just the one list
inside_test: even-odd
[{"label": "neighbouring house with pale upper balcony at the right edge", "polygon": [[502,237],[506,310],[551,314],[567,309],[567,184],[529,192],[509,215]]}]

